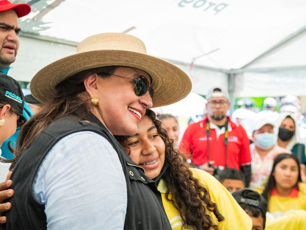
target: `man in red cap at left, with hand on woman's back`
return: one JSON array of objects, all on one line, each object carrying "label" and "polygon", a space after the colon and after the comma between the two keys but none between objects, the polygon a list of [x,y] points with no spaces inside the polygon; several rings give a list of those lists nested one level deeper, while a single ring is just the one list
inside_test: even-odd
[{"label": "man in red cap at left, with hand on woman's back", "polygon": [[[0,71],[7,74],[9,65],[15,61],[19,48],[18,34],[21,31],[18,17],[23,17],[31,12],[28,4],[12,4],[7,0],[0,0]],[[4,145],[4,144],[3,144]],[[0,183],[0,203],[13,195],[11,190],[5,190],[12,185],[12,181]],[[0,212],[10,209],[9,203],[0,204]],[[0,224],[6,217],[0,216]]]}]

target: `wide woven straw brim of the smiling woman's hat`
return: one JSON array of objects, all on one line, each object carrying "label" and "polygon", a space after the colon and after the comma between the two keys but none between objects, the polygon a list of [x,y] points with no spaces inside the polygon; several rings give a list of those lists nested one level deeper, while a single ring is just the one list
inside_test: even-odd
[{"label": "wide woven straw brim of the smiling woman's hat", "polygon": [[192,88],[184,71],[160,58],[126,50],[95,50],[64,57],[41,69],[30,83],[31,93],[44,104],[56,95],[58,83],[80,71],[104,66],[128,66],[147,72],[154,89],[153,108],[182,100]]}]

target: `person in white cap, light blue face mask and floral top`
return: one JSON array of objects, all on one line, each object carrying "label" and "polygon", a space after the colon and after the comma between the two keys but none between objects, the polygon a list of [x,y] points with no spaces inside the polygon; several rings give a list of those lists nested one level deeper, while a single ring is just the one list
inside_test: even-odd
[{"label": "person in white cap, light blue face mask and floral top", "polygon": [[249,188],[265,185],[271,174],[274,158],[280,153],[291,153],[275,145],[274,125],[265,118],[256,117],[253,123],[253,140],[250,144],[252,176]]}]

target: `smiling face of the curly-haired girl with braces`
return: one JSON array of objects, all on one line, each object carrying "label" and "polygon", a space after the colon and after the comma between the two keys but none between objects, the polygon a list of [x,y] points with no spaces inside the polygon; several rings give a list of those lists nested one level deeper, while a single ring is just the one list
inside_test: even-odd
[{"label": "smiling face of the curly-haired girl with braces", "polygon": [[131,159],[144,168],[147,177],[157,177],[165,163],[165,143],[153,121],[147,116],[142,117],[137,133],[125,143],[130,148]]}]

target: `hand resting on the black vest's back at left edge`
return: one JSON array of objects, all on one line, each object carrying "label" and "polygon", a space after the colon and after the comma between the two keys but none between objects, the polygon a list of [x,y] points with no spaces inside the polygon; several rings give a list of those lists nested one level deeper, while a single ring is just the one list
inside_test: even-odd
[{"label": "hand resting on the black vest's back at left edge", "polygon": [[11,177],[12,172],[9,172],[6,176],[6,181],[0,183],[0,224],[4,224],[6,222],[6,217],[2,216],[2,212],[8,211],[11,209],[11,203],[3,201],[9,197],[12,197],[14,194],[13,189],[7,189],[12,185],[12,181],[9,179]]}]

